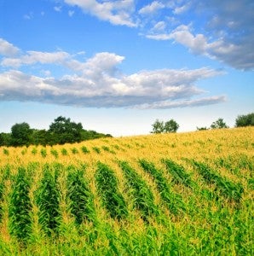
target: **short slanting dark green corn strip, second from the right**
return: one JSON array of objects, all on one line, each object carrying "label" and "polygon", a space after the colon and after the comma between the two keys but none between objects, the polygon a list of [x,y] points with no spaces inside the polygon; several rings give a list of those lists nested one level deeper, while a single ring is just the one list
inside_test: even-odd
[{"label": "short slanting dark green corn strip, second from the right", "polygon": [[184,168],[172,160],[163,160],[168,172],[173,177],[174,183],[182,183],[183,185],[192,188],[194,183],[190,175],[185,172]]}]

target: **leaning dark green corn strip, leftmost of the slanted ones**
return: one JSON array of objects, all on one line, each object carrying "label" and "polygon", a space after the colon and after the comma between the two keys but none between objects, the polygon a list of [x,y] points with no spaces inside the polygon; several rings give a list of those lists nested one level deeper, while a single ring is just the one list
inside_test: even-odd
[{"label": "leaning dark green corn strip, leftmost of the slanted ones", "polygon": [[126,203],[123,195],[118,191],[118,181],[113,170],[98,162],[95,179],[102,204],[107,208],[111,218],[126,218],[128,214]]}]

